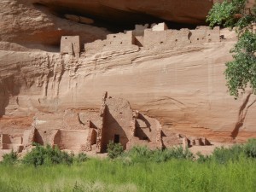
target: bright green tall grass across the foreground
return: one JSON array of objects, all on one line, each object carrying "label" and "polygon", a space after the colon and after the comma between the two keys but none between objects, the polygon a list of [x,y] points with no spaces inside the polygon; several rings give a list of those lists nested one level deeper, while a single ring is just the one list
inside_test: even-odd
[{"label": "bright green tall grass across the foreground", "polygon": [[55,166],[0,165],[1,192],[46,191],[224,191],[256,190],[256,160],[219,164],[192,160],[141,162],[90,159]]}]

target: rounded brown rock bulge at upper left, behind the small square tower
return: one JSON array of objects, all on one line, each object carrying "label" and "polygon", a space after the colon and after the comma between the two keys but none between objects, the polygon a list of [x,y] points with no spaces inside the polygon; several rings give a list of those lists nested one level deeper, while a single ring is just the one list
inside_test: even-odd
[{"label": "rounded brown rock bulge at upper left, behind the small square tower", "polygon": [[[25,0],[0,1],[0,19],[0,49],[58,51],[61,36],[79,35],[85,43],[102,39],[109,33],[101,27],[62,19],[46,7]],[[26,46],[14,46],[6,42]],[[57,49],[45,45],[57,46]]]}]

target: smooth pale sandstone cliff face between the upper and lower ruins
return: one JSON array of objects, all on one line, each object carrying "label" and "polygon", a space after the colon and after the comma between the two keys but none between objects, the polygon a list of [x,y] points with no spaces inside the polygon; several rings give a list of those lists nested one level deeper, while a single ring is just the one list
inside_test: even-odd
[{"label": "smooth pale sandstone cliff face between the upper and lower ruins", "polygon": [[159,119],[166,131],[224,141],[238,125],[233,137],[244,140],[255,132],[255,96],[247,93],[235,101],[223,74],[235,39],[80,58],[1,51],[1,129],[19,126],[5,125],[9,117],[100,108],[102,92],[108,90]]}]

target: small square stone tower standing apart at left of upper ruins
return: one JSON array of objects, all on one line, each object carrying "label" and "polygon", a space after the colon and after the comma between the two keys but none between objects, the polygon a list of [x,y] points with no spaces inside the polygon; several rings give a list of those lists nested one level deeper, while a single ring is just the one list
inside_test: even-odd
[{"label": "small square stone tower standing apart at left of upper ruins", "polygon": [[79,36],[62,36],[61,37],[61,54],[79,56],[80,54]]}]

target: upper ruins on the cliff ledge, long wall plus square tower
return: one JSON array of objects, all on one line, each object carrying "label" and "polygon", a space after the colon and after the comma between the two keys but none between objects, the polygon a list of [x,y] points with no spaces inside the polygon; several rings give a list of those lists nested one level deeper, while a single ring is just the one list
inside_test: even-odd
[{"label": "upper ruins on the cliff ledge, long wall plus square tower", "polygon": [[[136,25],[133,31],[109,34],[105,40],[84,44],[85,55],[95,55],[106,51],[127,51],[137,49],[172,49],[192,44],[219,42],[219,27],[198,26],[195,30],[168,29],[165,23]],[[79,55],[79,36],[61,38],[61,54]]]}]

